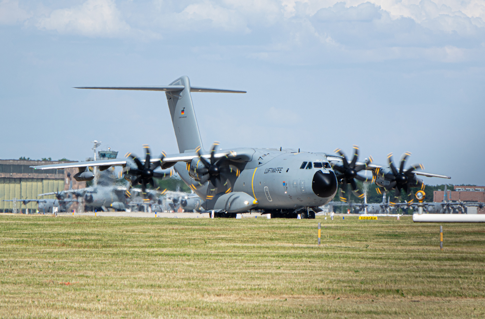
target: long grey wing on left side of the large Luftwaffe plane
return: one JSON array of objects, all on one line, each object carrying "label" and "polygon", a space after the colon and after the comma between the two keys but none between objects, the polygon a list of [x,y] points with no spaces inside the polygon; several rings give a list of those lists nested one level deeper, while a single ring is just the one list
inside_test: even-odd
[{"label": "long grey wing on left side of the large Luftwaffe plane", "polygon": [[[252,149],[251,149],[252,150]],[[227,156],[230,160],[234,161],[248,161],[251,159],[252,154],[246,154],[244,152],[238,153],[232,150],[219,150],[216,151],[214,154],[215,158],[222,158]],[[166,155],[162,163],[176,163],[176,162],[190,162],[193,158],[197,158],[199,155],[196,152],[188,152],[188,153],[178,153],[178,154],[169,154]],[[204,158],[210,158],[210,154],[202,155]],[[141,158],[140,158],[141,160]],[[161,157],[155,157],[150,159],[151,163],[155,163],[160,161]],[[60,164],[52,164],[52,165],[38,165],[38,166],[31,166],[33,169],[64,169],[64,168],[71,168],[71,167],[94,167],[94,166],[125,166],[127,162],[131,160],[128,159],[110,159],[110,160],[101,160],[101,161],[89,161],[89,162],[73,162],[73,163],[60,163]],[[144,161],[142,161],[144,163]]]}]

